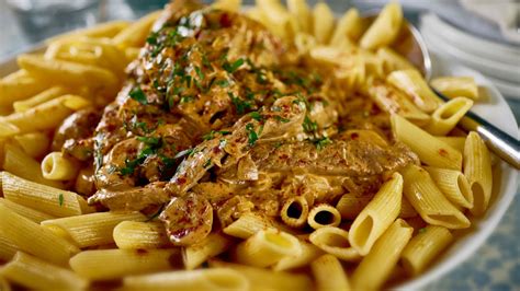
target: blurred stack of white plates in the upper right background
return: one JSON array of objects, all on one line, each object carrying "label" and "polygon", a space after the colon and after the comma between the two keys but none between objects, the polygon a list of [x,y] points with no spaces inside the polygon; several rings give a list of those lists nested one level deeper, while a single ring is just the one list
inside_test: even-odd
[{"label": "blurred stack of white plates in the upper right background", "polygon": [[479,38],[432,13],[421,16],[419,30],[429,49],[479,71],[506,97],[520,100],[520,47]]}]

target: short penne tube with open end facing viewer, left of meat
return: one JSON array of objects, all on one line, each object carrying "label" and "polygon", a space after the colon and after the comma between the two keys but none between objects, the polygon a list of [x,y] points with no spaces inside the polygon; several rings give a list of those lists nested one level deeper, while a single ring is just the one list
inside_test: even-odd
[{"label": "short penne tube with open end facing viewer, left of meat", "polygon": [[46,179],[69,181],[76,178],[78,170],[78,165],[61,152],[50,152],[42,161],[42,173]]}]

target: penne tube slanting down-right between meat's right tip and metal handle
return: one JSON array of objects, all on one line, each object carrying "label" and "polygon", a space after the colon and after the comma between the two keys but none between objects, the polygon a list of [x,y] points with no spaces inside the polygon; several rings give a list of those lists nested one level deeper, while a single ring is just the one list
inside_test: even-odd
[{"label": "penne tube slanting down-right between meat's right tip and metal handle", "polygon": [[421,162],[436,167],[462,168],[462,154],[399,115],[392,115],[392,129],[396,138],[408,146]]}]

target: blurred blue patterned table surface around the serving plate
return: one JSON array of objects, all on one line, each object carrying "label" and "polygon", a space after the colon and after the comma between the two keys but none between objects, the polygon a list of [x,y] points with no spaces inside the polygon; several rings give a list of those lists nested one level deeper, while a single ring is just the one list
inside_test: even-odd
[{"label": "blurred blue patterned table surface around the serving plate", "polygon": [[[14,0],[21,1],[21,0]],[[49,1],[49,0],[33,0]],[[66,1],[66,0],[63,0]],[[99,21],[112,19],[136,19],[158,9],[165,0],[90,0],[98,2],[91,10],[78,16],[60,20],[59,13],[50,13],[38,20],[39,23],[27,23],[23,13],[15,13],[8,8],[7,0],[0,0],[0,60],[26,50],[43,39],[72,30],[92,25]],[[251,0],[245,2],[252,2]],[[316,2],[316,1],[309,1]],[[351,1],[327,1],[334,11],[341,12],[349,8]],[[360,1],[355,2],[359,4]],[[381,2],[381,1],[380,1]],[[87,14],[87,15],[84,15]],[[415,18],[412,15],[412,18]],[[71,22],[70,19],[79,20]],[[520,92],[519,92],[520,95]],[[508,100],[517,123],[520,119],[520,101]],[[520,290],[520,199],[515,199],[505,218],[489,240],[475,255],[444,276],[427,290]]]}]

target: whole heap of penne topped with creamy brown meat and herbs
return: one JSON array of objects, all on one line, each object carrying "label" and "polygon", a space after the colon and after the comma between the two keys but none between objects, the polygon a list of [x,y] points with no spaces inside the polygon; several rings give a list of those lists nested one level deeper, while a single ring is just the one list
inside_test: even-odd
[{"label": "whole heap of penne topped with creamy brown meat and herbs", "polygon": [[[176,0],[0,81],[0,287],[371,290],[485,212],[471,78],[399,55],[400,7]],[[23,88],[23,89],[22,89]],[[14,226],[15,225],[15,226]],[[2,289],[3,290],[3,289]]]}]

